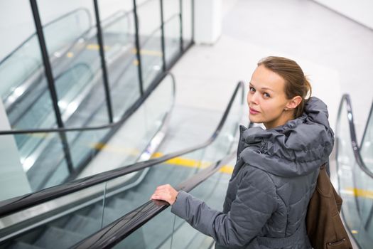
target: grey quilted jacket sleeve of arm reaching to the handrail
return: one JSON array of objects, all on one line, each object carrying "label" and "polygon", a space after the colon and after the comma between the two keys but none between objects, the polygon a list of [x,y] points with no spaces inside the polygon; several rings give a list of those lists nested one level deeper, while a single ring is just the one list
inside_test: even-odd
[{"label": "grey quilted jacket sleeve of arm reaching to the handrail", "polygon": [[171,211],[193,228],[210,235],[217,244],[244,246],[256,237],[276,211],[276,188],[266,172],[247,171],[228,213],[209,208],[203,201],[180,191]]}]

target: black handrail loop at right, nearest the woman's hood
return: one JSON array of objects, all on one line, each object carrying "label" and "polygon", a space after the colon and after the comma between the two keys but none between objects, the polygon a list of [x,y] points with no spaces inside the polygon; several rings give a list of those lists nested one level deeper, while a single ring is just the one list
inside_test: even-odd
[{"label": "black handrail loop at right, nearest the woman's hood", "polygon": [[350,128],[351,145],[352,145],[352,151],[354,153],[355,161],[357,162],[357,165],[360,167],[360,169],[364,171],[365,174],[367,174],[370,178],[373,178],[373,172],[370,171],[370,169],[368,169],[368,167],[365,165],[364,161],[362,160],[362,156],[360,155],[360,147],[357,143],[357,136],[355,132],[354,115],[352,113],[351,99],[350,99],[350,95],[348,94],[343,95],[342,99],[340,100],[340,107],[338,110],[337,120],[339,120],[340,115],[342,115],[343,102],[346,102],[348,125]]}]

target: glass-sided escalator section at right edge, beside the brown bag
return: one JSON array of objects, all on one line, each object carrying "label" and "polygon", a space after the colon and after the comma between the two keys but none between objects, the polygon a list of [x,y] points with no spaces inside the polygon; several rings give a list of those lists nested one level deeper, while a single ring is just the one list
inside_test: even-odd
[{"label": "glass-sided escalator section at right edge, beside the brown bag", "polygon": [[[370,117],[372,119],[372,117]],[[372,124],[371,121],[368,125]],[[372,127],[367,126],[367,134]],[[360,154],[353,127],[350,102],[341,102],[337,120],[337,174],[340,195],[343,198],[342,215],[347,228],[361,248],[371,248],[373,243],[372,208],[373,178],[369,175],[369,157],[367,144],[372,137],[367,135],[362,144]],[[365,148],[364,148],[365,147]],[[364,170],[363,170],[364,169]],[[372,169],[372,168],[370,168]]]}]

